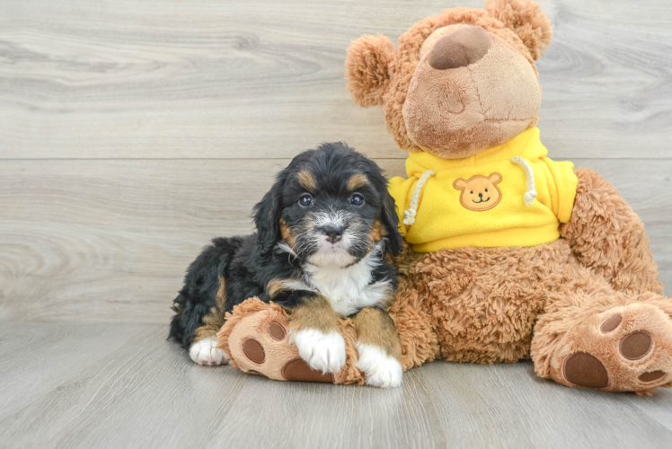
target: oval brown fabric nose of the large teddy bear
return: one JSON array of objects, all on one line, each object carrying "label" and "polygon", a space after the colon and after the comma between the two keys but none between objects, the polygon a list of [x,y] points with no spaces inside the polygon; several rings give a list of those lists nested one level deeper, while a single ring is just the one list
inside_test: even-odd
[{"label": "oval brown fabric nose of the large teddy bear", "polygon": [[469,66],[485,56],[491,47],[490,33],[482,27],[461,28],[434,44],[429,51],[429,66],[437,70]]}]

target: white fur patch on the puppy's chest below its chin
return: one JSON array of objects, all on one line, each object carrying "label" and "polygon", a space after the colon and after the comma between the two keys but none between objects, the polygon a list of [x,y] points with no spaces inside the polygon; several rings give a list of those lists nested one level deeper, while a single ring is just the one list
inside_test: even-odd
[{"label": "white fur patch on the puppy's chest below its chin", "polygon": [[309,274],[309,279],[341,317],[357,313],[364,307],[385,303],[391,291],[389,280],[372,282],[371,271],[365,267],[316,268]]}]

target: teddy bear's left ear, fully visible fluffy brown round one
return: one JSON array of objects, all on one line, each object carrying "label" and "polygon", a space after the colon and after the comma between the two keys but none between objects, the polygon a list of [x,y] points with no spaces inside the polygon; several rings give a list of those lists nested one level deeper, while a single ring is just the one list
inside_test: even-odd
[{"label": "teddy bear's left ear, fully visible fluffy brown round one", "polygon": [[345,79],[348,91],[359,106],[383,104],[383,94],[390,84],[389,63],[394,57],[392,41],[385,36],[362,36],[348,48]]}]

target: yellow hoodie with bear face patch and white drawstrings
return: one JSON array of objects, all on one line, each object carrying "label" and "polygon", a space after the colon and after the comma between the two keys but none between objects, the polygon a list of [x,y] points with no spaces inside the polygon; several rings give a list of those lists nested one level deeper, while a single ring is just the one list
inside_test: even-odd
[{"label": "yellow hoodie with bear face patch and white drawstrings", "polygon": [[577,177],[574,164],[546,154],[538,128],[464,159],[411,153],[409,179],[389,184],[403,237],[416,252],[553,242],[570,219]]}]

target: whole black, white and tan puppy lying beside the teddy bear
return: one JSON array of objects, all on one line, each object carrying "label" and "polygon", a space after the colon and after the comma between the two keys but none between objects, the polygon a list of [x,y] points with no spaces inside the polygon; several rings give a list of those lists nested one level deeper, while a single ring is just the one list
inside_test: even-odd
[{"label": "whole black, white and tan puppy lying beside the teddy bear", "polygon": [[258,296],[290,312],[290,340],[313,369],[336,373],[345,364],[337,317],[349,316],[367,383],[401,384],[401,343],[385,310],[402,238],[376,163],[342,143],[299,154],[255,207],[254,222],[257,233],[217,238],[190,265],[170,337],[201,365],[226,363],[215,335],[224,313]]}]

